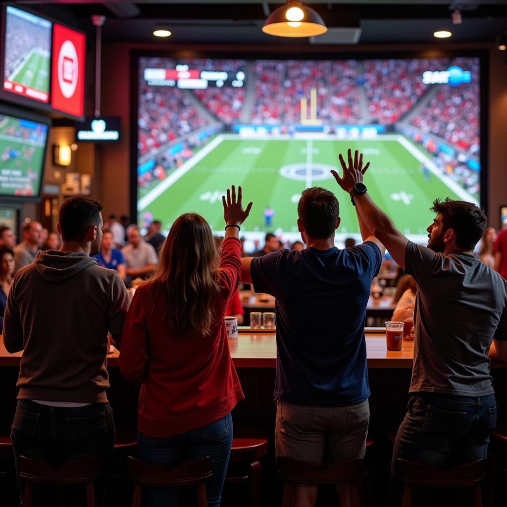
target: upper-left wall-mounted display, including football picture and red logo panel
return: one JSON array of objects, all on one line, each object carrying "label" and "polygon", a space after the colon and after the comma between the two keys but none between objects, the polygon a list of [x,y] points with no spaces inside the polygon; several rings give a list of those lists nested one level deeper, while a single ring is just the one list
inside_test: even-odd
[{"label": "upper-left wall-mounted display, including football picture and red logo panel", "polygon": [[81,120],[84,32],[14,5],[5,5],[2,14],[0,97]]}]

